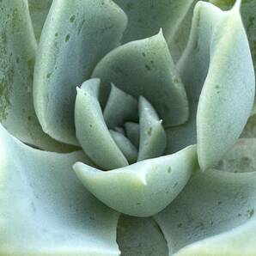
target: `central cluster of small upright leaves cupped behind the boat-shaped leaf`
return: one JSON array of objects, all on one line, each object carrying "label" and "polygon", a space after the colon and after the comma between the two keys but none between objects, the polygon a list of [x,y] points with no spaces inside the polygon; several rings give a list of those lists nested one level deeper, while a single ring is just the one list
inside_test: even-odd
[{"label": "central cluster of small upright leaves cupped behind the boat-shaped leaf", "polygon": [[110,170],[161,156],[167,137],[150,102],[112,84],[101,107],[100,83],[98,78],[83,82],[76,96],[76,137],[91,160]]}]

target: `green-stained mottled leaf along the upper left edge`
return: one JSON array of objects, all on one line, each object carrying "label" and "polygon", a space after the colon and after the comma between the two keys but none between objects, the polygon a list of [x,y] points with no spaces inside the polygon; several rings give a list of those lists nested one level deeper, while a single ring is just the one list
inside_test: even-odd
[{"label": "green-stained mottled leaf along the upper left edge", "polygon": [[32,83],[36,40],[26,0],[0,3],[0,121],[15,137],[41,149],[69,150],[42,131]]}]

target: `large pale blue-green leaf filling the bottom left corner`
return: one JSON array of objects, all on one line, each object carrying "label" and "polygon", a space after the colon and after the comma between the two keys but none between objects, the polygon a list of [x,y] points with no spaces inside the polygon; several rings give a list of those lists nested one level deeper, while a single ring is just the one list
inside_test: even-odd
[{"label": "large pale blue-green leaf filling the bottom left corner", "polygon": [[82,187],[80,152],[32,149],[0,128],[0,255],[119,255],[119,214]]}]

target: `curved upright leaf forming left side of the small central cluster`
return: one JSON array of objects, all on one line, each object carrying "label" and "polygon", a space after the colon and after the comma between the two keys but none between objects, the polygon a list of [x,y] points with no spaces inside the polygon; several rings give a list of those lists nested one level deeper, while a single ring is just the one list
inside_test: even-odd
[{"label": "curved upright leaf forming left side of the small central cluster", "polygon": [[84,152],[101,168],[125,167],[128,162],[107,129],[98,101],[100,80],[93,78],[77,88],[76,137]]}]

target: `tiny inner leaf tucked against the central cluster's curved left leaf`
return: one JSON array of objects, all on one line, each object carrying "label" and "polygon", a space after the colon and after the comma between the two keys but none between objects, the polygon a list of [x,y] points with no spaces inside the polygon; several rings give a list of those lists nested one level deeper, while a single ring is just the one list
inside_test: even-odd
[{"label": "tiny inner leaf tucked against the central cluster's curved left leaf", "polygon": [[131,164],[137,161],[137,148],[131,141],[125,137],[123,133],[118,131],[109,131],[113,137],[114,142],[118,145],[119,149],[125,155],[127,161]]}]

